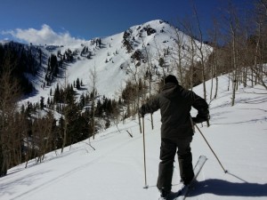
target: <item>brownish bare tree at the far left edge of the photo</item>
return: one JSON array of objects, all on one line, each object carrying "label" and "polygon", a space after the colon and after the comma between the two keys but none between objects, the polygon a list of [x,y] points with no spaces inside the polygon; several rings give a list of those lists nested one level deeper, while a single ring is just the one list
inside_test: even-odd
[{"label": "brownish bare tree at the far left edge of the photo", "polygon": [[15,115],[20,98],[18,81],[12,77],[12,63],[9,55],[4,60],[2,74],[0,76],[0,176],[4,176],[12,166],[12,151],[14,143],[20,145],[16,138],[18,129]]}]

